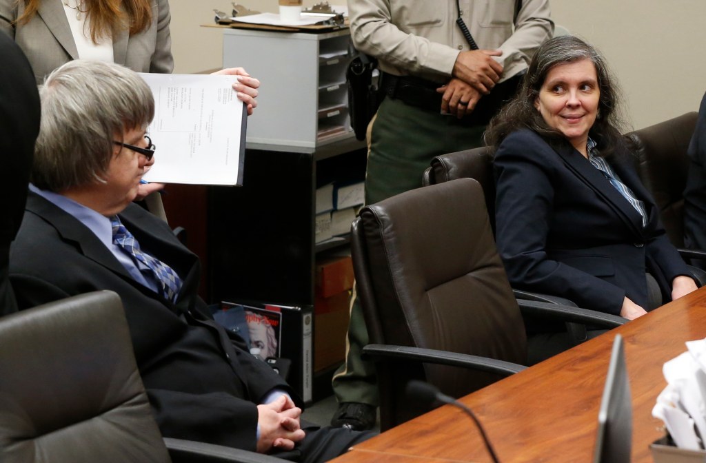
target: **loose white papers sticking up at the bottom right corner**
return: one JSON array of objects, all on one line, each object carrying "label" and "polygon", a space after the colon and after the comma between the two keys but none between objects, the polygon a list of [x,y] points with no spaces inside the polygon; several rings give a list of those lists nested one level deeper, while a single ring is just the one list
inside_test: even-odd
[{"label": "loose white papers sticking up at the bottom right corner", "polygon": [[652,416],[662,419],[677,447],[702,450],[706,438],[706,339],[686,343],[688,351],[664,363],[667,387]]}]

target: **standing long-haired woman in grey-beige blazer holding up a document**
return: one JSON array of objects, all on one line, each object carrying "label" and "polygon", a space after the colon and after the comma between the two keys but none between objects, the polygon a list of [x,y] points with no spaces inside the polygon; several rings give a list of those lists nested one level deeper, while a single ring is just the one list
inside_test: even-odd
[{"label": "standing long-haired woman in grey-beige blazer holding up a document", "polygon": [[[73,24],[69,22],[69,16]],[[168,0],[0,0],[0,30],[23,50],[37,84],[54,69],[73,59],[96,59],[92,44],[112,44],[112,61],[136,72],[172,73],[172,39]],[[85,37],[82,37],[85,35]],[[77,40],[78,39],[78,40]],[[107,42],[108,41],[108,42]],[[107,61],[103,50],[100,61]],[[233,84],[248,114],[257,106],[259,80],[243,68],[217,74],[238,76]],[[164,188],[142,184],[138,199]]]}]

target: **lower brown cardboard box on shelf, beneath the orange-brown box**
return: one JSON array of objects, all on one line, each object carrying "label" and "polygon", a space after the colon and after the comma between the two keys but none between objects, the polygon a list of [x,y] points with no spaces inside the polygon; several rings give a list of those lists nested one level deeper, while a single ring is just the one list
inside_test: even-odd
[{"label": "lower brown cardboard box on shelf, beneath the orange-brown box", "polygon": [[351,291],[314,299],[313,371],[343,361],[350,317]]}]

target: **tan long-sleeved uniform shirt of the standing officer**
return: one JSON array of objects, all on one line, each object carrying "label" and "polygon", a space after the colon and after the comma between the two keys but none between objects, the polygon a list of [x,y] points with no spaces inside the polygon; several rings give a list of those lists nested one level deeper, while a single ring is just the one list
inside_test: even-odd
[{"label": "tan long-sleeved uniform shirt of the standing officer", "polygon": [[[501,49],[501,81],[523,71],[551,37],[549,0],[460,0],[461,17],[480,49]],[[382,71],[439,83],[451,76],[459,52],[469,50],[455,23],[455,0],[348,0],[355,47],[379,60]]]}]

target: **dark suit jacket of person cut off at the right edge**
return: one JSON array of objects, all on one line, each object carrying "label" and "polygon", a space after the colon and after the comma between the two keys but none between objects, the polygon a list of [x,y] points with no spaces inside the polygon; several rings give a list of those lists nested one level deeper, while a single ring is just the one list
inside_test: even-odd
[{"label": "dark suit jacket of person cut off at the right edge", "polygon": [[[691,163],[684,189],[684,244],[691,249],[706,249],[706,94],[701,100],[688,155]],[[704,260],[693,264],[706,268]]]}]

